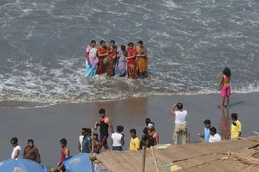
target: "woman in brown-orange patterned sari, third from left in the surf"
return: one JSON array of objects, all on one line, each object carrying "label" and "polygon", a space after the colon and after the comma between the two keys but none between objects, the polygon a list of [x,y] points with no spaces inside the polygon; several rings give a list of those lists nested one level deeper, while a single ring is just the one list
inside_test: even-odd
[{"label": "woman in brown-orange patterned sari, third from left in the surf", "polygon": [[116,57],[117,46],[115,46],[115,41],[111,40],[111,45],[108,48],[107,77],[115,75]]}]

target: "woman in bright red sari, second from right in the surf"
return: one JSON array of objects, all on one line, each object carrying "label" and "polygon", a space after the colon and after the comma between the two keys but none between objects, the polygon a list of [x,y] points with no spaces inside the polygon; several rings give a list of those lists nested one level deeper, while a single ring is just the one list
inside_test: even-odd
[{"label": "woman in bright red sari, second from right in the surf", "polygon": [[135,48],[133,48],[133,43],[130,42],[128,43],[128,47],[127,47],[127,68],[128,68],[128,77],[129,78],[135,78],[136,77],[136,68],[137,68],[137,65],[136,65],[136,54],[137,54],[137,51]]}]

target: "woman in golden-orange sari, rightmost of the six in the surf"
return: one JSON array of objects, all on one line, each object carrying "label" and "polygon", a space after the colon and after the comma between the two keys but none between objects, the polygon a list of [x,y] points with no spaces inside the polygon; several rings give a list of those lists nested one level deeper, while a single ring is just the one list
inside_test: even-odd
[{"label": "woman in golden-orange sari, rightmost of the six in the surf", "polygon": [[139,71],[139,77],[142,79],[147,77],[147,69],[148,69],[148,55],[146,52],[146,48],[143,46],[143,42],[139,41],[138,46],[136,46],[137,51],[137,68]]}]

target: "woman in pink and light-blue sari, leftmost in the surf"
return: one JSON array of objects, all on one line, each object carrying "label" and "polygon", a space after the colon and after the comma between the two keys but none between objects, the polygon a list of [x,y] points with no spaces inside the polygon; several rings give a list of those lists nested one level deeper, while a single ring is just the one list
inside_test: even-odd
[{"label": "woman in pink and light-blue sari, leftmost in the surf", "polygon": [[90,41],[90,45],[86,48],[86,71],[85,77],[94,76],[97,72],[97,48],[95,48],[96,41]]}]

